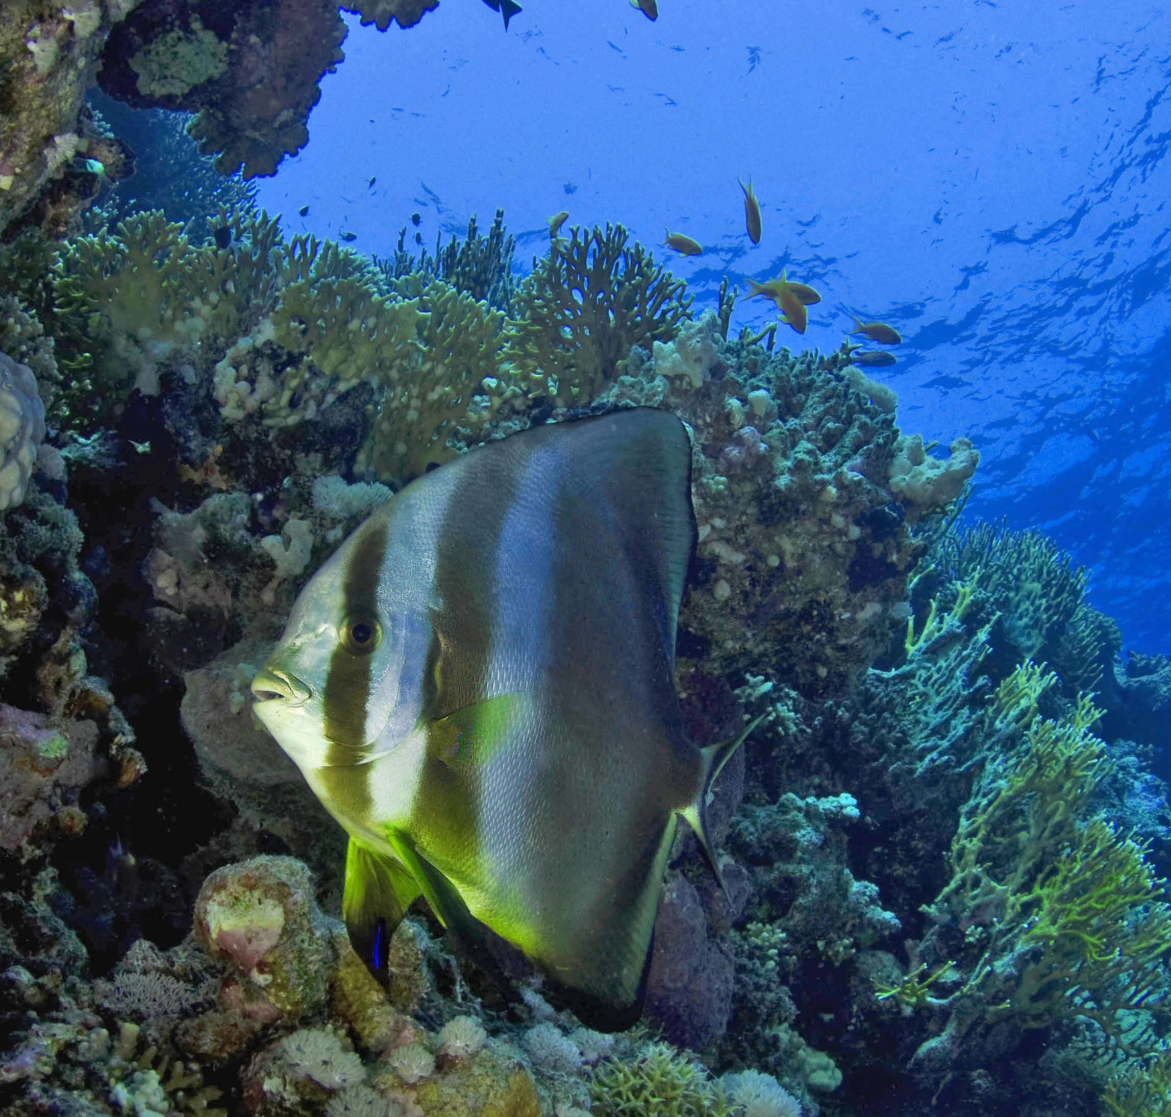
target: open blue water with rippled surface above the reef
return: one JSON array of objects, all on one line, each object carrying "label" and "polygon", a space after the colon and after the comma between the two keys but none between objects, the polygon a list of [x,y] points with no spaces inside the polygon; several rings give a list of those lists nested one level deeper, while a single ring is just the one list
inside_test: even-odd
[{"label": "open blue water with rippled surface above the reef", "polygon": [[[649,244],[670,227],[705,246],[671,260],[697,309],[725,274],[742,295],[788,268],[823,301],[779,343],[896,326],[875,373],[902,429],[984,456],[968,520],[1041,529],[1127,647],[1171,653],[1169,45],[1171,15],[1131,0],[662,0],[653,23],[529,0],[507,33],[443,0],[408,32],[351,19],[309,145],[259,200],[378,254],[412,212],[433,248],[500,206],[525,261],[562,209]],[[771,309],[741,298],[733,329]]]}]

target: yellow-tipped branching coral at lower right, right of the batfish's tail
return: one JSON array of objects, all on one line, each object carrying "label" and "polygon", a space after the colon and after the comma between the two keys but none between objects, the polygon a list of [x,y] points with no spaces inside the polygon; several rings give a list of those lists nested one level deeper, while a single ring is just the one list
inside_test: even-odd
[{"label": "yellow-tipped branching coral at lower right, right of the batfish's tail", "polygon": [[1033,716],[1046,682],[1025,665],[989,709],[989,720],[1027,728],[986,761],[952,843],[952,879],[927,912],[923,956],[959,959],[963,983],[926,997],[949,1016],[916,1054],[923,1067],[954,1058],[980,1020],[1039,1028],[1084,1016],[1111,1042],[1143,1050],[1150,1034],[1132,1013],[1166,1013],[1151,1000],[1171,949],[1163,881],[1143,846],[1101,819],[1082,822],[1109,772],[1090,733],[1098,710],[1083,696],[1057,721]]}]

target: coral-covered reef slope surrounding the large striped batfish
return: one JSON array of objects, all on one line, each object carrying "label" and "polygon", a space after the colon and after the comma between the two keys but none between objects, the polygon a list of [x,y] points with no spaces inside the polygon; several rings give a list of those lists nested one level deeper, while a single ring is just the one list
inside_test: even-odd
[{"label": "coral-covered reef slope surrounding the large striped batfish", "polygon": [[[304,102],[320,5],[247,45],[254,5],[165,7],[119,25],[137,46],[111,81],[194,101],[309,35],[316,61],[241,111]],[[300,109],[251,148],[244,116],[203,108],[228,162],[299,142]],[[1171,668],[1116,661],[1043,537],[957,524],[964,440],[945,457],[902,431],[848,349],[730,334],[727,282],[693,316],[621,226],[516,282],[500,213],[369,261],[246,198],[190,230],[115,209],[0,248],[22,492],[0,515],[6,1112],[910,1115],[1009,1111],[1026,1079],[1029,1117],[1151,1104]],[[707,804],[721,883],[690,833],[672,850],[653,1043],[581,1028],[535,974],[504,996],[415,914],[382,988],[323,914],[344,836],[248,694],[304,579],[412,476],[631,406],[692,435],[689,733],[761,716]]]}]

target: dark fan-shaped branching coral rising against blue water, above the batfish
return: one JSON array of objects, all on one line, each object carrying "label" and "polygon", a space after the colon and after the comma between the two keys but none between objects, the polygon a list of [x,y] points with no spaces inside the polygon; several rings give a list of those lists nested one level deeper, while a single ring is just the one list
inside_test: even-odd
[{"label": "dark fan-shaped branching coral rising against blue water, above the batfish", "polygon": [[587,403],[619,372],[632,346],[650,352],[691,316],[682,280],[622,225],[574,229],[521,284],[505,359],[529,390]]}]

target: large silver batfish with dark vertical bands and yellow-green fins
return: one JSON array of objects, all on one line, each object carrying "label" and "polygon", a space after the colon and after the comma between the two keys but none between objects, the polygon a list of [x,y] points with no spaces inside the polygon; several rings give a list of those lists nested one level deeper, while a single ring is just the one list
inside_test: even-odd
[{"label": "large silver batfish with dark vertical bands and yellow-green fins", "polygon": [[674,690],[690,462],[667,411],[535,427],[409,484],[297,598],[254,709],[349,833],[368,965],[423,895],[593,1027],[637,1019],[678,819],[714,865],[752,729],[700,749]]}]

